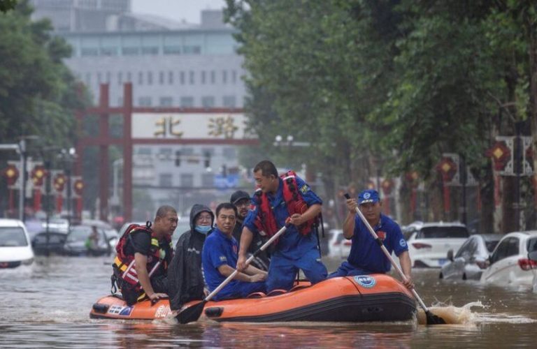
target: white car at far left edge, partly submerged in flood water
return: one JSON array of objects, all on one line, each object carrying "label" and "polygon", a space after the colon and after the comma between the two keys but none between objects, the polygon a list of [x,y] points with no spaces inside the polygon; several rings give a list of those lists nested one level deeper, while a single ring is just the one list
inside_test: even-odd
[{"label": "white car at far left edge, partly submerged in flood water", "polygon": [[17,219],[0,219],[0,269],[31,265],[34,251],[24,223]]}]

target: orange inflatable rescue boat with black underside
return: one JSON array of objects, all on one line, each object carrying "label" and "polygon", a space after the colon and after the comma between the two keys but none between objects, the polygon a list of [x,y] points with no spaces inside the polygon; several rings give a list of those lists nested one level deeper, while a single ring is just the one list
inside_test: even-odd
[{"label": "orange inflatable rescue boat with black underside", "polygon": [[[185,308],[199,301],[185,304]],[[410,320],[416,311],[412,294],[384,274],[345,276],[299,286],[281,295],[207,302],[203,313],[216,321],[370,322]],[[127,306],[108,296],[93,304],[91,318],[154,320],[171,314],[169,301]]]}]

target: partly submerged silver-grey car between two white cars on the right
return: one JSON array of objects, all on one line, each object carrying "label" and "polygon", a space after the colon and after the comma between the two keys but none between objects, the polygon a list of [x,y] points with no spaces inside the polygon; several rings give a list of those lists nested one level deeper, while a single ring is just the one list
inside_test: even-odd
[{"label": "partly submerged silver-grey car between two white cars on the right", "polygon": [[503,237],[501,234],[472,235],[457,254],[447,251],[448,262],[442,266],[440,279],[479,280],[487,268],[487,258]]}]

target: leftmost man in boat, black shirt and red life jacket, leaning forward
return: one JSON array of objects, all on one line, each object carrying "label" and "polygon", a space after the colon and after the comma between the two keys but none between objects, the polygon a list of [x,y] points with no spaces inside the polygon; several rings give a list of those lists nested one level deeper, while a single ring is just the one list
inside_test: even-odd
[{"label": "leftmost man in boat, black shirt and red life jacket, leaning forward", "polygon": [[168,297],[168,265],[173,257],[171,235],[177,228],[177,211],[159,207],[152,225],[130,225],[117,242],[113,279],[130,306],[146,298]]}]

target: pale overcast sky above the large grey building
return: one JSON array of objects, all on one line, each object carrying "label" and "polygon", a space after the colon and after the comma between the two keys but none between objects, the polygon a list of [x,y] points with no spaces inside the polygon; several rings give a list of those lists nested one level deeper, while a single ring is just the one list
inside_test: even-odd
[{"label": "pale overcast sky above the large grey building", "polygon": [[217,10],[225,4],[224,0],[131,0],[131,10],[199,24],[201,10]]}]

